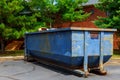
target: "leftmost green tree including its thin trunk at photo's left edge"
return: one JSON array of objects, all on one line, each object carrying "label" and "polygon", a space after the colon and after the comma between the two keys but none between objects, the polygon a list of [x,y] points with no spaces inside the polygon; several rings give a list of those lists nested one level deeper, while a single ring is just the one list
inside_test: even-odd
[{"label": "leftmost green tree including its thin trunk at photo's left edge", "polygon": [[[23,37],[25,32],[38,29],[36,15],[25,15],[24,0],[0,0],[0,41],[4,52],[4,41]],[[24,13],[24,14],[22,14]],[[37,14],[37,13],[36,13]]]}]

